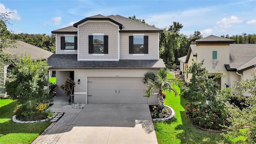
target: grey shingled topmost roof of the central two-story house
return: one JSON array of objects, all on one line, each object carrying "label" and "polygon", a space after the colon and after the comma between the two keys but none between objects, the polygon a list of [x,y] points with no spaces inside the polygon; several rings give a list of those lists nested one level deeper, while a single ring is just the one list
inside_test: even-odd
[{"label": "grey shingled topmost roof of the central two-story house", "polygon": [[72,27],[61,28],[58,30],[52,31],[53,34],[56,33],[65,33],[65,32],[74,32],[77,33],[77,26],[86,22],[87,20],[109,20],[115,24],[119,25],[120,32],[160,32],[162,33],[163,30],[160,28],[156,28],[154,26],[149,26],[147,24],[143,24],[141,22],[137,22],[135,20],[125,18],[120,15],[110,15],[110,16],[102,16],[101,14],[90,16],[88,18],[84,18],[79,22],[76,22]]}]

